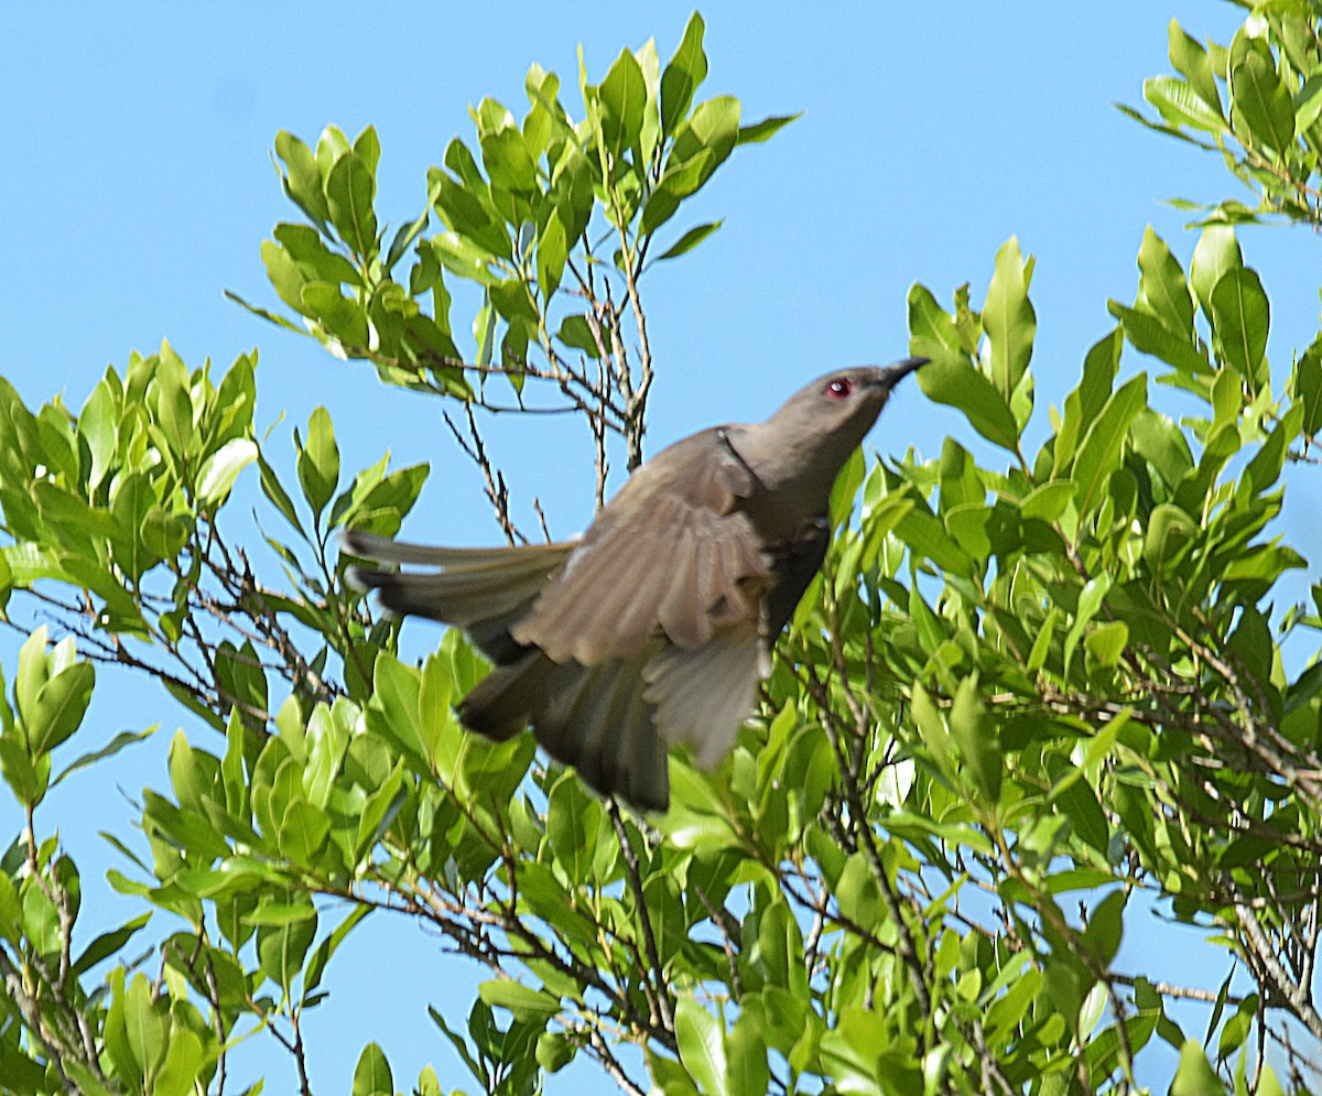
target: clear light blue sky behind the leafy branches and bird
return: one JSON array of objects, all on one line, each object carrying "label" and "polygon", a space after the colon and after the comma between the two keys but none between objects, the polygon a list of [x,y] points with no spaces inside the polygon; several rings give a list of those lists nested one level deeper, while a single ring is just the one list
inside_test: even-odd
[{"label": "clear light blue sky behind the leafy branches and bird", "polygon": [[[297,217],[271,143],[280,128],[311,143],[327,123],[350,135],[375,126],[378,214],[398,225],[422,208],[426,171],[449,137],[471,134],[471,103],[492,95],[521,114],[533,61],[572,89],[580,42],[594,78],[621,46],[649,37],[666,57],[689,11],[602,0],[5,5],[0,374],[30,403],[62,390],[79,406],[107,362],[151,353],[161,338],[190,365],[209,356],[225,366],[258,346],[259,422],[287,414],[270,443],[282,467],[291,467],[290,426],[324,403],[346,468],[386,448],[401,464],[432,463],[410,534],[493,541],[476,475],[439,430],[435,402],[386,391],[369,369],[223,299],[229,288],[275,304],[258,249],[278,221]],[[1084,352],[1112,325],[1107,299],[1133,299],[1144,227],[1187,260],[1195,235],[1161,200],[1232,190],[1214,157],[1112,106],[1137,104],[1144,77],[1169,70],[1173,15],[1195,37],[1227,41],[1241,11],[1219,0],[722,3],[703,15],[706,94],[738,95],[748,119],[805,114],[732,157],[693,210],[693,222],[724,217],[724,227],[645,283],[658,369],[649,451],[713,422],[761,418],[834,365],[903,357],[908,287],[923,282],[949,301],[972,282],[978,303],[1011,234],[1036,256],[1040,439],[1044,405],[1063,401]],[[571,94],[566,104],[575,112]],[[1292,348],[1317,331],[1317,241],[1303,229],[1259,229],[1241,243],[1272,297],[1280,383]],[[1126,350],[1121,368],[1145,365]],[[1173,412],[1191,410],[1169,398]],[[978,450],[969,428],[910,387],[870,444],[935,456],[947,434]],[[553,533],[580,529],[591,513],[586,438],[550,420],[505,422],[493,439],[516,512],[529,514],[537,496]],[[1322,533],[1306,509],[1317,513],[1288,516],[1297,543]],[[12,645],[0,656],[12,677]],[[59,826],[83,867],[91,916],[108,919],[127,907],[99,882],[114,861],[95,832],[127,834],[134,817],[108,781],[127,796],[165,785],[164,750],[181,715],[149,685],[104,682],[75,750],[123,727],[165,727],[112,767],[70,780],[38,824]],[[0,804],[0,824],[8,841],[19,825],[12,805]],[[432,1062],[446,1088],[471,1088],[424,998],[405,988],[428,970],[426,999],[457,1015],[447,1002],[467,1002],[479,972],[410,924],[369,925],[332,966],[332,1002],[309,1022],[313,1087],[346,1089],[358,1048],[377,1039],[397,1087]],[[1170,955],[1163,945],[1162,959]],[[1121,965],[1142,970],[1149,957],[1132,941]],[[1170,980],[1219,982],[1210,972],[1223,970],[1220,959],[1212,966],[1192,948],[1179,957]],[[1188,1030],[1202,1034],[1198,1023]],[[270,1068],[267,1091],[284,1091],[292,1075],[278,1052],[253,1055],[238,1077]],[[550,1091],[571,1083],[613,1091],[590,1070],[553,1079]]]}]

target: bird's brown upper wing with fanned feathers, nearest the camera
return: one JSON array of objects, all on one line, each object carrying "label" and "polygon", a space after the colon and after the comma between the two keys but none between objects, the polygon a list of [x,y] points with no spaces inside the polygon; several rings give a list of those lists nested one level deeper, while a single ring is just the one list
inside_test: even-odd
[{"label": "bird's brown upper wing with fanned feathers, nearest the camera", "polygon": [[759,623],[771,565],[740,496],[751,473],[703,431],[645,464],[513,629],[555,662],[632,658],[664,633],[691,649]]}]

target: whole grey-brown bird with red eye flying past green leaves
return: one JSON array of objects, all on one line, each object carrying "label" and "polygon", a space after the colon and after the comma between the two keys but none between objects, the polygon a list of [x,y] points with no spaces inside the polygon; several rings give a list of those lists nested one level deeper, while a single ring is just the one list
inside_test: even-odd
[{"label": "whole grey-brown bird with red eye flying past green leaves", "polygon": [[927,358],[828,373],[764,423],[657,453],[575,541],[500,549],[349,531],[350,568],[398,615],[463,628],[494,669],[457,705],[504,740],[533,726],[603,795],[665,810],[666,748],[703,768],[754,713],[771,648],[826,555],[828,504],[891,389]]}]

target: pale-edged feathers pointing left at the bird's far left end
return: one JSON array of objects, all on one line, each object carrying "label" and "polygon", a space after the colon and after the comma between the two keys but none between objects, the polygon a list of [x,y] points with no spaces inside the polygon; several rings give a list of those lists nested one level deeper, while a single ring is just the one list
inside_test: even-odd
[{"label": "pale-edged feathers pointing left at the bird's far left end", "polygon": [[356,567],[349,576],[357,586],[375,590],[387,611],[457,624],[484,654],[504,662],[513,653],[510,624],[546,590],[547,579],[574,551],[575,542],[446,549],[349,531],[344,546],[364,559],[439,568],[406,572]]}]

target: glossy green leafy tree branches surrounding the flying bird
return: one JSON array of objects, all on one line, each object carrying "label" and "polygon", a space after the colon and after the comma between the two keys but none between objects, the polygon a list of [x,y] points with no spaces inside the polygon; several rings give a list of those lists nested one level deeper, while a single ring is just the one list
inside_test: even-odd
[{"label": "glossy green leafy tree branches surrounding the flying bird", "polygon": [[[1296,8],[1251,16],[1243,56],[1286,65]],[[483,409],[582,416],[600,497],[609,447],[641,455],[641,275],[713,226],[656,258],[653,238],[785,120],[695,102],[702,32],[694,16],[664,69],[649,44],[598,85],[580,74],[576,123],[539,67],[521,123],[480,103],[479,153],[451,143],[389,246],[370,130],[316,151],[278,137],[307,222],[263,256],[303,327],[263,315],[461,406],[456,438],[512,538]],[[397,533],[424,468],[346,477],[317,409],[282,483],[247,357],[214,385],[164,346],[78,414],[0,385],[9,619],[33,607],[62,636],[33,631],[0,689],[0,771],[26,814],[0,859],[8,1088],[221,1092],[234,1047],[266,1033],[307,1092],[301,1023],[337,948],[389,911],[488,968],[463,1030],[432,1011],[486,1092],[539,1091],[579,1055],[631,1092],[1134,1092],[1159,1042],[1179,1052],[1173,1092],[1282,1092],[1266,1048],[1303,1091],[1322,1040],[1322,670],[1294,652],[1322,628],[1322,587],[1276,609],[1306,562],[1273,521],[1286,464],[1315,463],[1322,336],[1273,381],[1269,300],[1227,225],[1187,268],[1149,231],[1138,270],[1035,448],[1031,258],[1006,243],[977,311],[966,286],[949,308],[914,287],[923,390],[968,430],[931,461],[846,468],[761,714],[715,773],[670,759],[665,817],[598,800],[526,735],[463,734],[449,705],[483,673],[463,637],[406,665],[397,625],[345,587],[334,530]],[[476,287],[467,360],[456,279]],[[1192,412],[1122,375],[1126,345]],[[221,516],[251,464],[263,528],[283,530],[263,534],[275,580]],[[156,677],[215,734],[176,734],[145,841],[111,837],[111,883],[140,912],[75,952],[78,871],[36,812],[97,662]],[[1118,965],[1154,906],[1228,953],[1219,990]],[[1171,1015],[1187,997],[1207,999],[1206,1033]],[[431,1070],[414,1089],[442,1091]],[[395,1091],[377,1046],[352,1091]]]}]

